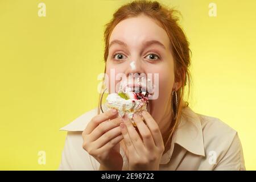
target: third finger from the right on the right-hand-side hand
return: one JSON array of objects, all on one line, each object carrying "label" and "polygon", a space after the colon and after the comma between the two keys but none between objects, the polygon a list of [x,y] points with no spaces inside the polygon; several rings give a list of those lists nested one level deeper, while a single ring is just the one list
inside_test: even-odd
[{"label": "third finger from the right on the right-hand-side hand", "polygon": [[125,115],[123,118],[123,122],[126,125],[127,132],[129,133],[131,142],[133,142],[133,146],[137,151],[137,154],[144,153],[144,144],[141,137],[139,137],[138,132],[135,130],[133,123],[131,123],[131,120],[127,117],[127,115]]}]

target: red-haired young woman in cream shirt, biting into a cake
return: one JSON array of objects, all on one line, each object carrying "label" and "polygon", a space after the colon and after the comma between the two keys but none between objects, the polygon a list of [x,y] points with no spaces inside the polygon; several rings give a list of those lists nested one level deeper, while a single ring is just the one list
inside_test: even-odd
[{"label": "red-haired young woman in cream shirt, biting into a cake", "polygon": [[60,170],[245,170],[237,132],[183,100],[190,49],[175,14],[151,1],[114,13],[104,34],[106,75],[157,73],[158,98],[131,119],[99,107],[63,127]]}]

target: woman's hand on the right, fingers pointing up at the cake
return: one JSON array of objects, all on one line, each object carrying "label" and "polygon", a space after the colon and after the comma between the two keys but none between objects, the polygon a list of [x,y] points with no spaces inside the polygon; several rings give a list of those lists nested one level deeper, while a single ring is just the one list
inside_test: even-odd
[{"label": "woman's hand on the right, fingers pointing up at the cake", "polygon": [[158,170],[164,152],[164,143],[158,124],[147,111],[142,111],[143,122],[138,114],[134,114],[139,134],[130,119],[125,117],[120,124],[123,139],[129,155],[129,170]]}]

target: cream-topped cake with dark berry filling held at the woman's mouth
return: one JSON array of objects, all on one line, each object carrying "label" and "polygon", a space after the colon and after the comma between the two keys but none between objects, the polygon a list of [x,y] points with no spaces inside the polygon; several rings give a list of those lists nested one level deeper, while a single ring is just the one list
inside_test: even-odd
[{"label": "cream-topped cake with dark berry filling held at the woman's mouth", "polygon": [[[117,109],[120,117],[127,113],[127,117],[133,118],[134,113],[147,110],[148,96],[154,93],[151,84],[147,85],[143,82],[121,82],[118,93],[109,94],[106,98],[106,105],[110,109]],[[135,123],[133,125],[136,126]]]}]

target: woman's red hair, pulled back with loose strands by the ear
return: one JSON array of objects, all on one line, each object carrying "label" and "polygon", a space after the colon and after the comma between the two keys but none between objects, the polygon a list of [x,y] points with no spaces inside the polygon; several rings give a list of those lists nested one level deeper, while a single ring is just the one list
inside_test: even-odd
[{"label": "woman's red hair, pulled back with loose strands by the ear", "polygon": [[[171,138],[171,135],[180,120],[179,118],[181,115],[181,110],[184,107],[183,97],[185,85],[188,84],[189,95],[191,84],[191,75],[188,69],[191,63],[191,50],[189,49],[189,42],[184,34],[184,31],[179,26],[179,18],[177,14],[179,14],[179,11],[164,5],[160,5],[160,3],[157,1],[133,1],[121,6],[117,11],[115,11],[112,20],[105,25],[104,32],[104,60],[106,62],[109,55],[110,35],[112,34],[114,27],[117,26],[117,24],[122,20],[137,17],[139,15],[146,15],[149,18],[156,20],[156,22],[158,22],[159,25],[166,31],[168,37],[170,38],[171,51],[172,55],[174,56],[175,81],[181,81],[182,83],[181,87],[176,90],[178,97],[178,106],[176,108],[177,118],[174,122],[172,122],[170,135],[167,141]],[[100,113],[100,106],[98,107],[98,113]]]}]

